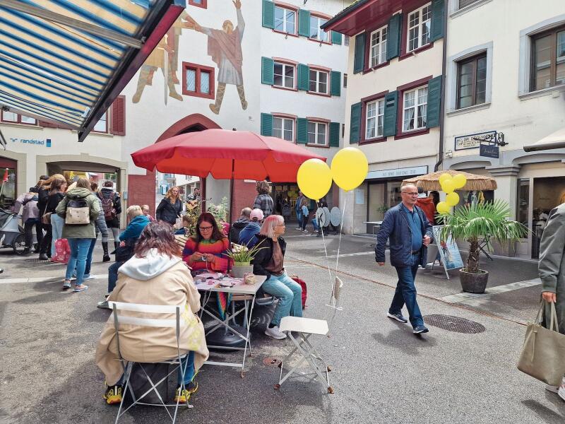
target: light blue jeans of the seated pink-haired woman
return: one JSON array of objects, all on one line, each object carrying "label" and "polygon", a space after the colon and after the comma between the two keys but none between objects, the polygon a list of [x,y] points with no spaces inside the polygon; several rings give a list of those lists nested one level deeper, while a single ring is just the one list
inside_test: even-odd
[{"label": "light blue jeans of the seated pink-haired woman", "polygon": [[277,309],[275,309],[273,319],[270,321],[271,324],[279,325],[280,320],[289,315],[302,317],[302,287],[287,276],[287,273],[280,276],[270,276],[261,285],[261,288],[266,293],[278,298]]}]

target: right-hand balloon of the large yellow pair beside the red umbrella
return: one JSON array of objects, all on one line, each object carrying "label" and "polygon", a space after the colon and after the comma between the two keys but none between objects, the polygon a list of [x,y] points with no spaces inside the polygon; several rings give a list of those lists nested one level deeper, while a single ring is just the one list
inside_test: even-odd
[{"label": "right-hand balloon of the large yellow pair beside the red umbrella", "polygon": [[367,156],[356,147],[346,147],[338,151],[331,161],[331,176],[335,184],[346,192],[364,182],[369,172]]}]

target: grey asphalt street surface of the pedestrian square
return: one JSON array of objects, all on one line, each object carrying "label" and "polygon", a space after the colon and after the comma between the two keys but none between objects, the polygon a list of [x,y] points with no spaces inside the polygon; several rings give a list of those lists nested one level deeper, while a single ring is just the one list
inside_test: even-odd
[{"label": "grey asphalt street surface of the pedestrian square", "polygon": [[[322,318],[331,295],[339,237],[326,240],[331,271],[319,237],[292,229],[285,264],[308,284],[304,316]],[[544,384],[516,369],[525,332],[540,296],[537,264],[494,258],[481,297],[458,298],[457,271],[419,271],[417,288],[424,320],[448,315],[480,324],[465,334],[428,323],[414,336],[407,324],[386,318],[396,272],[377,267],[369,238],[343,236],[337,275],[345,285],[343,310],[331,337],[317,338],[331,364],[328,394],[319,381],[290,379],[279,391],[278,367],[265,365],[291,350],[290,341],[263,334],[270,308],[254,313],[253,355],[246,373],[205,365],[199,372],[194,408],[179,423],[563,423],[565,402]],[[97,338],[109,311],[96,302],[106,292],[107,266],[95,250],[93,274],[83,293],[64,293],[65,267],[0,252],[0,422],[113,423],[117,408],[102,400],[104,377],[94,364]],[[524,281],[530,283],[518,284]],[[533,282],[531,282],[533,281]],[[498,291],[496,290],[498,288]],[[454,297],[455,296],[455,297]],[[453,320],[453,319],[452,319]],[[239,353],[220,357],[237,360]],[[307,368],[301,367],[303,372]],[[174,384],[174,382],[171,382]],[[160,408],[138,407],[123,423],[165,423]]]}]

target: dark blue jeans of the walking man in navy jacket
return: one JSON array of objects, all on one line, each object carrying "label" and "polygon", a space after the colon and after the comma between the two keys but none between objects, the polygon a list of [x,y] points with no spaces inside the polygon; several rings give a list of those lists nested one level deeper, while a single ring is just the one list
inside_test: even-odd
[{"label": "dark blue jeans of the walking man in navy jacket", "polygon": [[388,309],[388,312],[391,314],[399,314],[404,304],[406,304],[406,309],[410,316],[410,324],[412,324],[414,328],[424,324],[422,312],[420,312],[420,307],[418,307],[416,300],[416,286],[414,285],[419,261],[420,254],[415,254],[412,255],[412,266],[396,268],[398,283],[396,285],[396,291],[394,292],[393,302]]}]

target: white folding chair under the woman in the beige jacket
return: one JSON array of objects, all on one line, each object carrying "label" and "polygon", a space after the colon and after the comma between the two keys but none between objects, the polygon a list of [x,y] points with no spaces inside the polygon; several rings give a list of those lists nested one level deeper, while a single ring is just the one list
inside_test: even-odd
[{"label": "white folding chair under the woman in the beige jacket", "polygon": [[[121,416],[123,416],[124,413],[126,413],[129,410],[129,408],[131,408],[132,406],[146,405],[146,406],[162,406],[162,407],[165,407],[165,411],[167,411],[167,414],[169,414],[169,418],[171,418],[172,423],[174,424],[175,420],[177,420],[177,412],[178,412],[178,409],[179,409],[179,401],[177,399],[176,404],[165,403],[166,399],[165,400],[162,399],[157,387],[160,384],[162,384],[162,382],[165,382],[165,384],[167,384],[169,375],[172,375],[172,373],[176,372],[177,370],[180,370],[181,375],[182,375],[182,382],[183,382],[182,387],[181,387],[181,391],[184,390],[184,373],[186,372],[186,365],[184,367],[181,366],[181,359],[185,358],[186,355],[188,355],[188,353],[181,353],[181,350],[180,350],[179,337],[180,337],[181,307],[180,306],[169,306],[169,305],[143,305],[143,304],[138,304],[138,303],[125,303],[125,302],[108,302],[108,305],[114,311],[114,312],[112,312],[111,317],[113,317],[113,319],[114,319],[114,329],[116,330],[116,341],[117,341],[117,346],[118,346],[118,355],[119,355],[119,360],[121,362],[121,366],[124,368],[124,379],[125,379],[125,388],[124,388],[124,391],[123,391],[122,396],[121,396],[121,403],[119,405],[118,415],[116,417],[115,423],[117,423],[119,418]],[[128,316],[127,314],[119,313],[119,312],[123,312],[123,311],[136,312],[136,316],[132,317],[132,316]],[[149,317],[141,317],[141,314],[151,314],[151,317],[150,318]],[[168,317],[166,319],[165,319],[165,317],[155,318],[155,316],[158,316],[158,314],[167,314]],[[174,319],[170,319],[171,314],[174,314],[174,317],[175,317]],[[172,358],[170,360],[162,360],[162,361],[159,361],[158,363],[169,364],[169,365],[177,365],[177,366],[173,367],[172,370],[169,369],[169,373],[167,375],[165,375],[165,377],[162,377],[162,379],[160,379],[158,382],[153,382],[152,379],[150,378],[150,376],[147,374],[147,372],[145,372],[145,369],[143,368],[143,363],[138,363],[138,365],[141,367],[141,370],[143,370],[143,373],[145,374],[145,377],[147,378],[151,387],[150,387],[150,389],[145,391],[145,393],[143,393],[141,396],[139,396],[139,398],[137,398],[137,399],[136,399],[136,395],[133,392],[133,388],[131,387],[131,384],[129,383],[129,377],[131,376],[131,370],[133,368],[133,365],[136,362],[124,358],[121,355],[121,350],[120,350],[120,347],[119,347],[119,326],[123,325],[123,324],[135,325],[135,326],[167,327],[167,328],[175,328],[176,329],[177,357]],[[188,363],[186,363],[186,364],[188,364]],[[131,395],[131,399],[133,399],[133,404],[129,405],[127,408],[124,409],[124,411],[122,411],[122,408],[124,407],[124,400],[126,399],[126,394],[128,393],[128,390],[129,390],[129,394]],[[150,394],[151,392],[154,392],[155,394],[157,394],[157,398],[160,401],[159,404],[148,404],[148,403],[142,402],[142,399],[145,396],[147,396],[148,394]],[[188,399],[186,399],[186,407],[192,408],[192,406],[188,402]],[[174,414],[173,415],[171,415],[171,413],[169,412],[169,408],[174,408]]]}]

